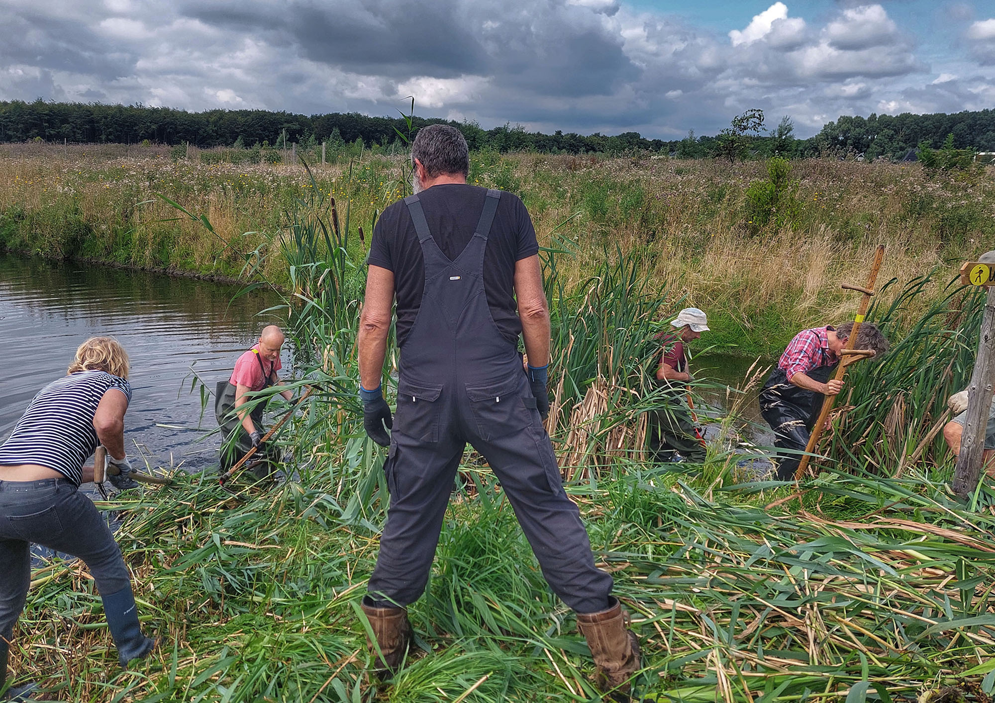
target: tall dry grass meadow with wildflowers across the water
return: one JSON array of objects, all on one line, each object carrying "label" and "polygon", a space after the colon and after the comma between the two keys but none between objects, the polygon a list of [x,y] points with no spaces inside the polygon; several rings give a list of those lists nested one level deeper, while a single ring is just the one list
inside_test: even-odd
[{"label": "tall dry grass meadow with wildflowers across the water", "polygon": [[[287,281],[285,261],[265,256],[268,235],[312,185],[341,204],[356,262],[377,214],[403,192],[401,157],[367,151],[317,165],[312,184],[300,166],[216,163],[210,153],[174,161],[155,147],[0,145],[0,246],[223,275],[239,275],[255,252],[271,279]],[[606,257],[638,259],[657,290],[707,310],[710,343],[743,355],[775,355],[797,329],[852,314],[839,284],[864,275],[879,243],[889,248],[883,279],[904,281],[995,241],[988,175],[930,180],[915,164],[800,161],[782,208],[790,217],[757,227],[745,194],[764,176],[759,162],[482,152],[470,180],[521,196],[540,243],[574,251],[564,280]],[[217,237],[177,220],[160,195],[207,216]]]}]

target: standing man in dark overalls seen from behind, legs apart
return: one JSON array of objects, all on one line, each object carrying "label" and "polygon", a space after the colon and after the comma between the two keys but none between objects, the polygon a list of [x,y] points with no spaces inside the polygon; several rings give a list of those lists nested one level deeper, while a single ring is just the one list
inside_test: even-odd
[{"label": "standing man in dark overalls seen from behind, legs apart", "polygon": [[[500,480],[546,581],[577,613],[599,685],[624,694],[639,669],[639,643],[611,596],[611,577],[594,566],[542,427],[549,313],[528,213],[511,194],[466,184],[467,142],[452,126],[423,127],[412,160],[421,194],[377,223],[357,339],[366,432],[390,445],[387,523],[362,605],[383,654],[377,666],[395,670],[407,651],[405,607],[425,590],[470,442]],[[388,436],[380,379],[395,292],[401,353]]]}]

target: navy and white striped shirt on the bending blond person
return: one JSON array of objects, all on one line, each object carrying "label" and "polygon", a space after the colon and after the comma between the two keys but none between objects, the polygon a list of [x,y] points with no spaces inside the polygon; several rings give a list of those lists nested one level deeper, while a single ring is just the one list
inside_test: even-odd
[{"label": "navy and white striped shirt on the bending blond person", "polygon": [[80,485],[83,463],[100,444],[94,415],[111,388],[131,402],[131,386],[104,371],[78,371],[53,381],[38,392],[0,445],[0,465],[37,463],[62,473]]}]

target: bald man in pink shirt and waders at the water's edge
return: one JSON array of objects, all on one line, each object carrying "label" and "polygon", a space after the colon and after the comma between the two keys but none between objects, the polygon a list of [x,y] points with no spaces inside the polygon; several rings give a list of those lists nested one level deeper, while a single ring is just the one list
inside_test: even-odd
[{"label": "bald man in pink shirt and waders at the water's edge", "polygon": [[[235,362],[235,370],[228,381],[218,383],[214,394],[214,415],[221,427],[221,472],[234,466],[253,446],[255,460],[246,469],[257,479],[266,478],[274,469],[276,454],[268,443],[262,441],[263,411],[261,402],[252,411],[240,410],[248,402],[247,393],[262,391],[280,383],[277,371],[281,369],[280,349],[284,333],[280,327],[269,325],[263,329],[259,342],[244,352]],[[291,400],[291,391],[284,391],[284,398]]]}]

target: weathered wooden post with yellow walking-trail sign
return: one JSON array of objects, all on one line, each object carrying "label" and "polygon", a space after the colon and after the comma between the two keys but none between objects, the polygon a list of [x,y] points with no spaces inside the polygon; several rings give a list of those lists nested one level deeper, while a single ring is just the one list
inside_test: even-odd
[{"label": "weathered wooden post with yellow walking-trail sign", "polygon": [[967,392],[967,418],[960,437],[957,469],[953,474],[953,492],[966,499],[978,487],[985,452],[985,431],[995,386],[995,252],[961,267],[962,280],[974,285],[988,286],[985,311],[981,318],[978,356],[971,372],[971,385]]}]

